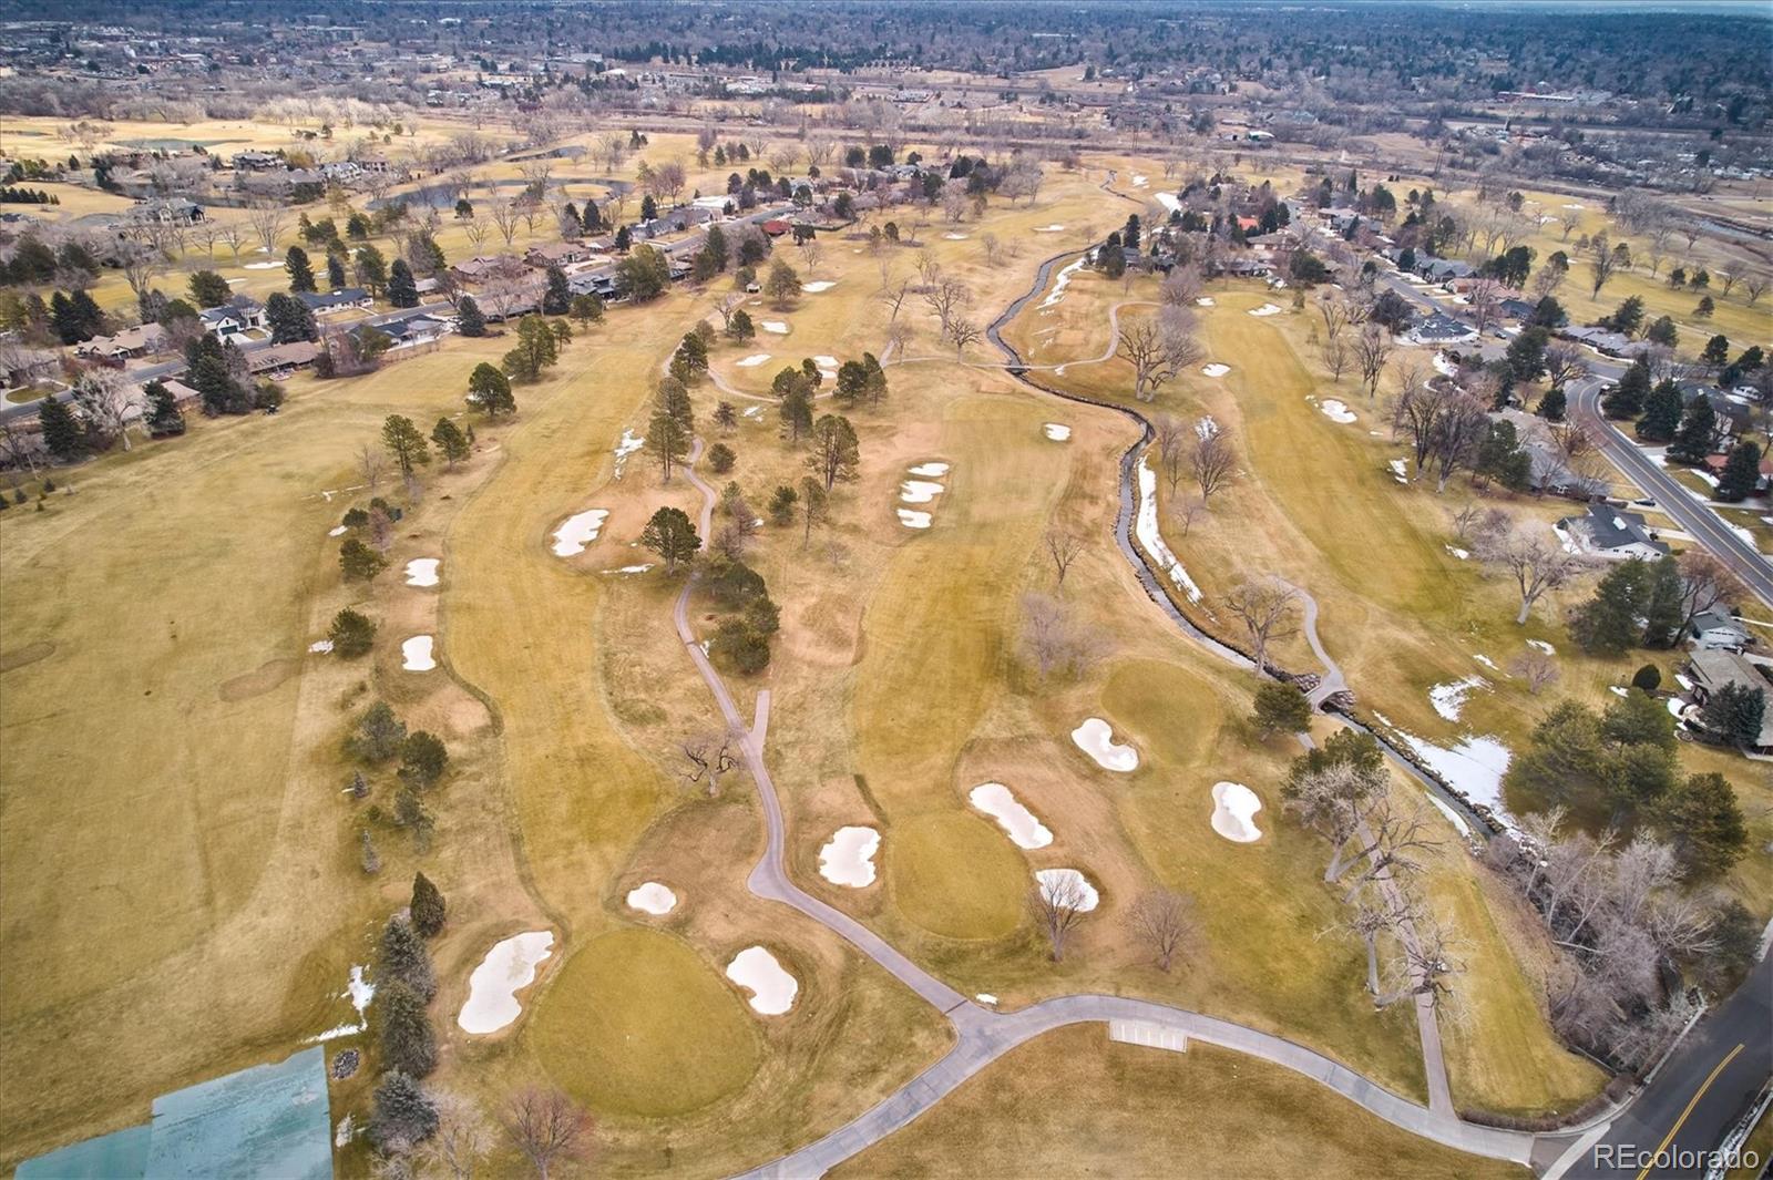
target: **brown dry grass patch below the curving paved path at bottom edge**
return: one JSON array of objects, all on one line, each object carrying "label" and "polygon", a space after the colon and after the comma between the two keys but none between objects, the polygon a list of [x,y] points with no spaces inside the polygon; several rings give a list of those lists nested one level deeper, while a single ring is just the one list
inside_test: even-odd
[{"label": "brown dry grass patch below the curving paved path at bottom edge", "polygon": [[[989,1129],[980,1134],[980,1129]],[[1296,1074],[1211,1045],[1108,1042],[1099,1024],[1021,1045],[835,1176],[1521,1176],[1434,1148]]]}]

